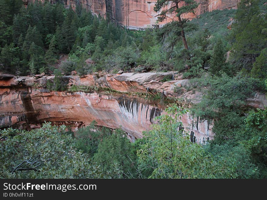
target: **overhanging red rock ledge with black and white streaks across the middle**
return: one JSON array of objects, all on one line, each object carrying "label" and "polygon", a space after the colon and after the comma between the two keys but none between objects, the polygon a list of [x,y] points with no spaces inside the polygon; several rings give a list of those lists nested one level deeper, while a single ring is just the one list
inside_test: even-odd
[{"label": "overhanging red rock ledge with black and white streaks across the middle", "polygon": [[[91,86],[98,88],[90,92],[49,92],[47,79],[54,76],[15,77],[0,74],[0,128],[37,128],[44,121],[54,124],[71,125],[79,128],[95,120],[97,125],[110,128],[122,128],[129,138],[141,138],[142,132],[151,129],[156,123],[155,117],[165,114],[160,100],[147,99],[154,93],[165,98],[177,100],[177,104],[190,107],[201,100],[201,93],[186,91],[190,86],[187,79],[175,79],[162,82],[173,72],[123,73],[121,75],[96,74],[64,76],[69,86]],[[184,93],[174,93],[174,87],[180,87]],[[101,89],[100,89],[101,88]],[[183,100],[181,100],[183,99]],[[263,108],[266,97],[257,94],[248,99],[248,105]],[[190,134],[193,142],[205,143],[214,137],[212,122],[192,118],[189,113],[181,118],[184,131]]]}]

